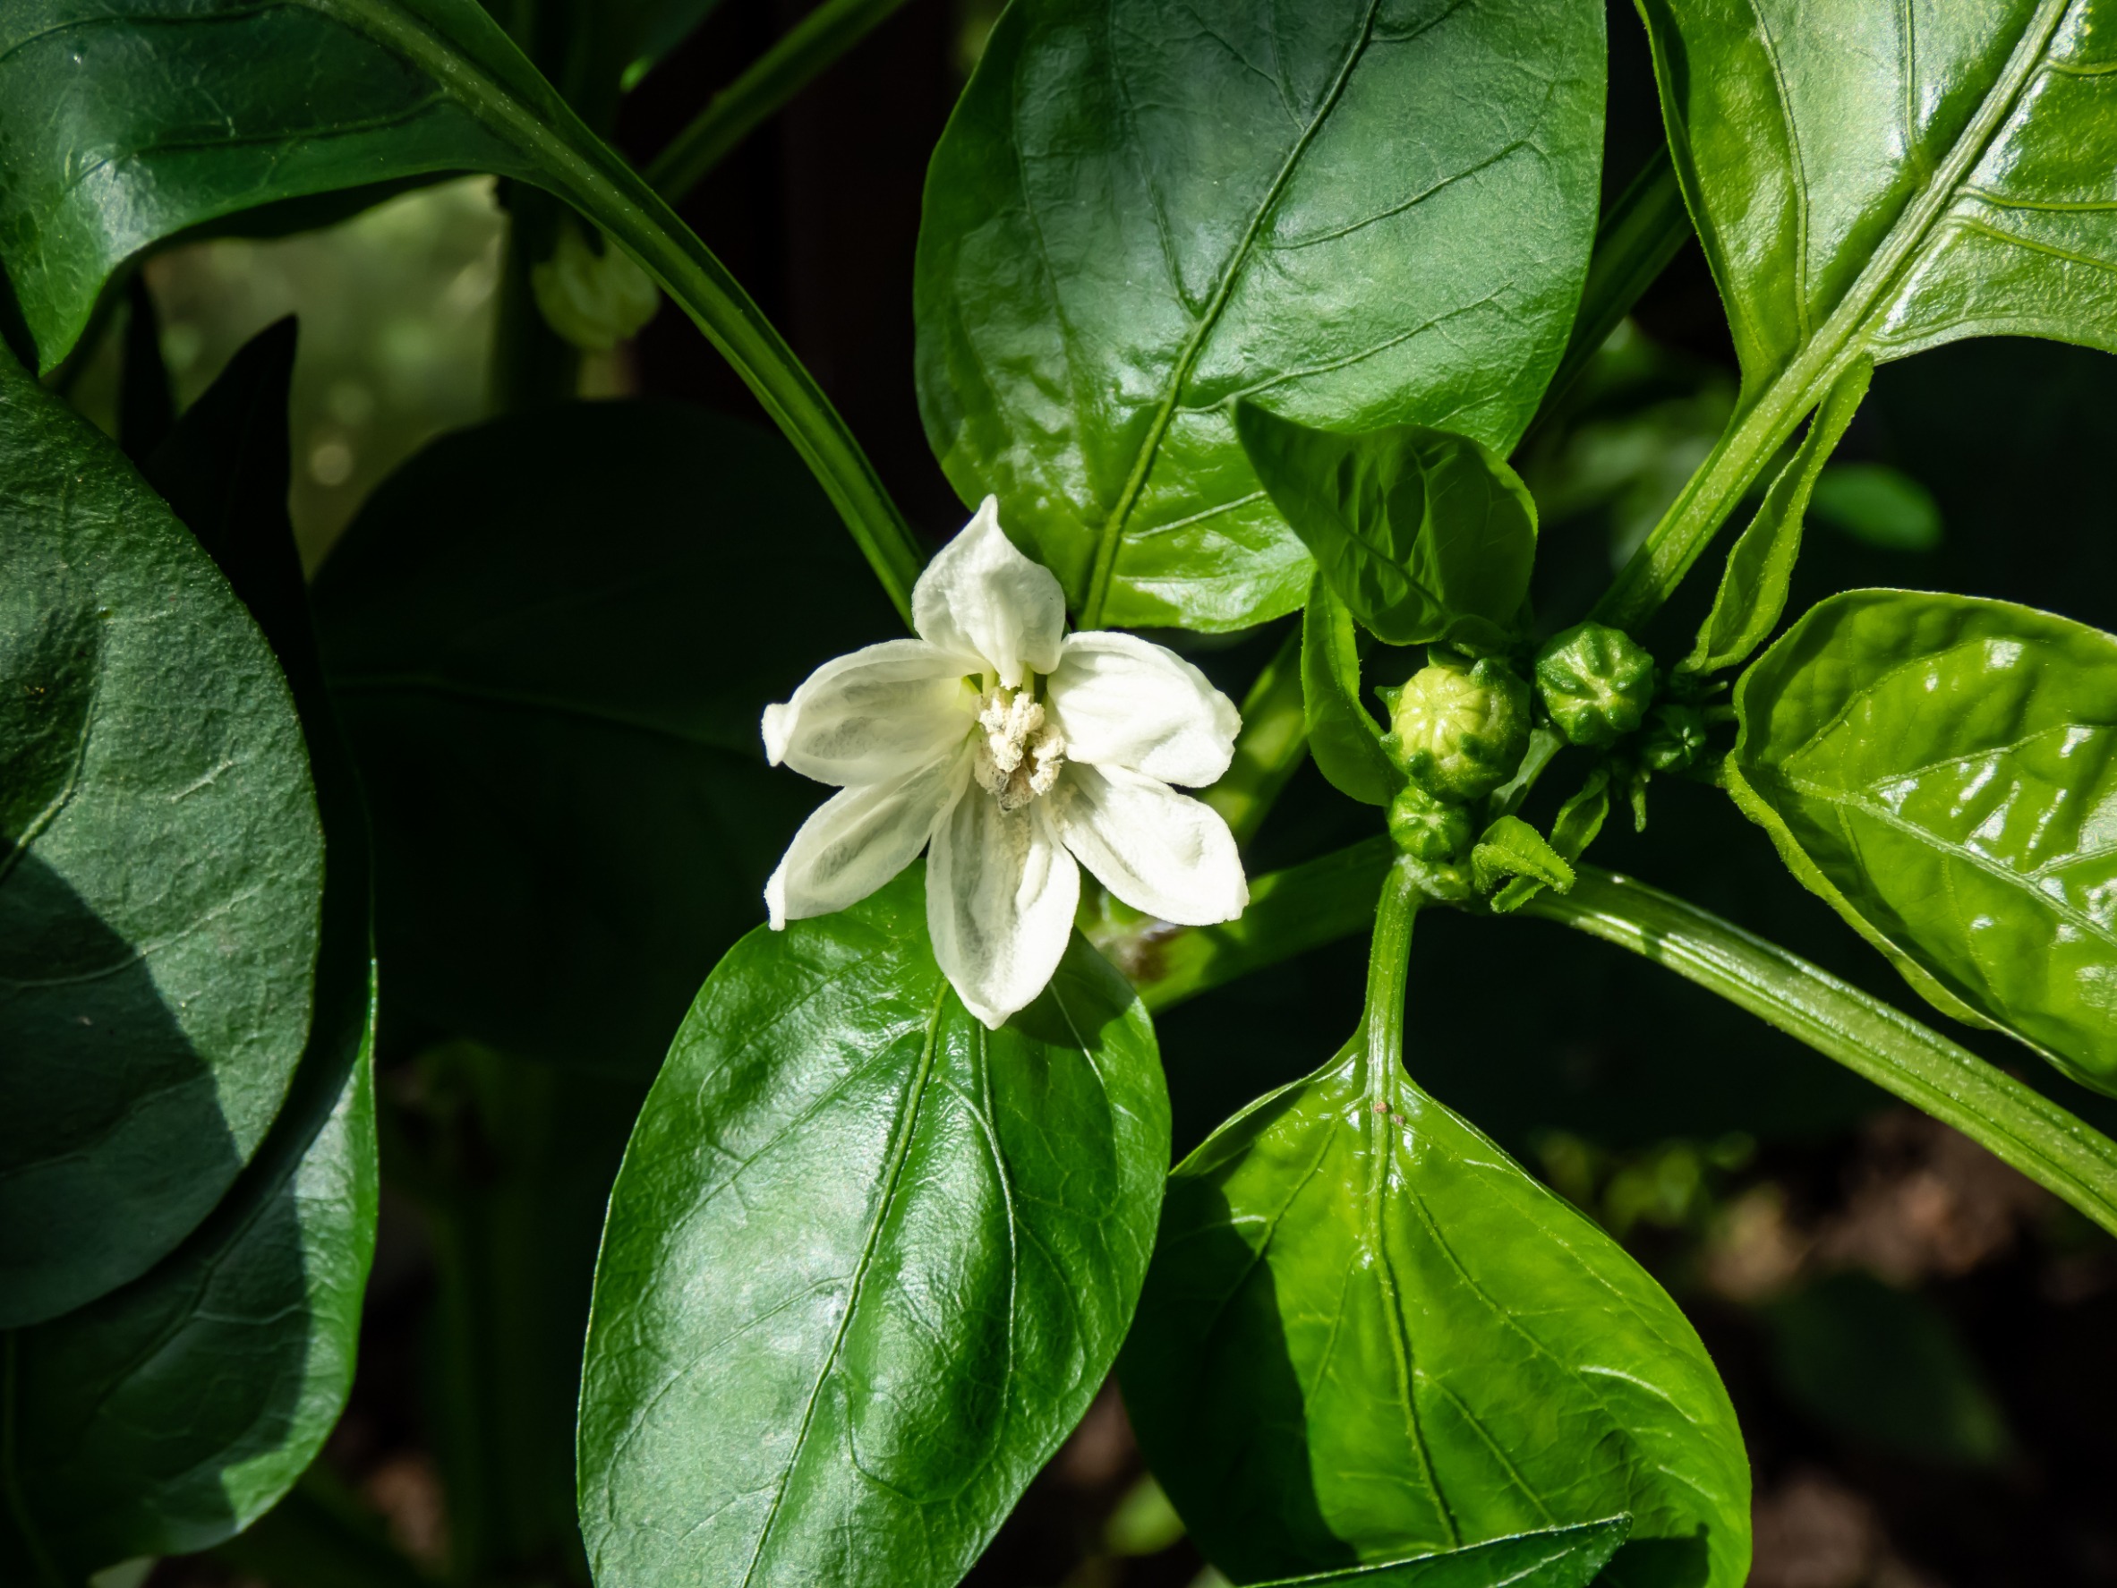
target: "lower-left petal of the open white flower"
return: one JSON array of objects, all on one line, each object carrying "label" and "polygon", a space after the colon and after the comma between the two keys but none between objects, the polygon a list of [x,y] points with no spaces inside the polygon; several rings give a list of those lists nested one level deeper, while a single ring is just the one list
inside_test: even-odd
[{"label": "lower-left petal of the open white flower", "polygon": [[788,921],[860,904],[910,866],[967,783],[965,750],[910,777],[847,788],[824,800],[800,824],[779,870],[764,883],[773,932]]}]

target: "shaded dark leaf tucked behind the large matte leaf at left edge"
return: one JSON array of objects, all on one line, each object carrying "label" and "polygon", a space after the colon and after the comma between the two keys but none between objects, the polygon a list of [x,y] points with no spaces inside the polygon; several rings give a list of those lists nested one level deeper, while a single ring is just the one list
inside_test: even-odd
[{"label": "shaded dark leaf tucked behind the large matte leaf at left edge", "polygon": [[315,1459],[354,1376],[377,1209],[368,853],[286,510],[292,330],[237,354],[148,472],[250,606],[301,709],[330,841],[309,1044],[256,1158],[171,1256],[11,1336],[0,1482],[17,1537],[0,1558],[70,1580],[248,1527]]}]

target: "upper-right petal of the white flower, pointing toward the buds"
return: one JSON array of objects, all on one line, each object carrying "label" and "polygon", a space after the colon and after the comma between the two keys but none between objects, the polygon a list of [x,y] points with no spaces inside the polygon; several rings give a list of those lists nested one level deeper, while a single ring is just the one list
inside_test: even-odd
[{"label": "upper-right petal of the white flower, pointing toward the buds", "polygon": [[1234,701],[1205,673],[1128,633],[1071,635],[1052,673],[1050,703],[1067,760],[1128,766],[1186,788],[1219,781],[1243,726]]}]

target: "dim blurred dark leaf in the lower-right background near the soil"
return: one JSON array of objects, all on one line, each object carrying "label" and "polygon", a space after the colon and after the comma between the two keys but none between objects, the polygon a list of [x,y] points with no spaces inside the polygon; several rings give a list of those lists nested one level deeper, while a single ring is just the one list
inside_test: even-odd
[{"label": "dim blurred dark leaf in the lower-right background near the soil", "polygon": [[1766,1311],[1780,1389],[1829,1429],[1943,1467],[1992,1467],[2007,1419],[1954,1323],[1914,1292],[1831,1275]]}]

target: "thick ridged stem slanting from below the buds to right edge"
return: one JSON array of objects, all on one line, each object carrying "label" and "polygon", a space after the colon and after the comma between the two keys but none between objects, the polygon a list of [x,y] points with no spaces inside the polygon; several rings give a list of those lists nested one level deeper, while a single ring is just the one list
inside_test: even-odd
[{"label": "thick ridged stem slanting from below the buds to right edge", "polygon": [[1924,1109],[2117,1234],[2117,1141],[1878,997],[1670,894],[1581,866],[1541,915],[1615,942]]}]

